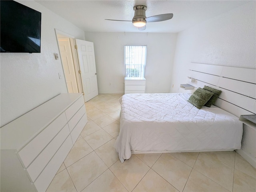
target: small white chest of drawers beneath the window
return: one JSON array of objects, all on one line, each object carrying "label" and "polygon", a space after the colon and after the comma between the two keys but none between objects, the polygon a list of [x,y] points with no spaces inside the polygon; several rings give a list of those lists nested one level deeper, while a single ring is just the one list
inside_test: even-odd
[{"label": "small white chest of drawers beneath the window", "polygon": [[124,94],[145,93],[146,79],[144,77],[125,77]]}]

